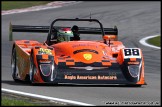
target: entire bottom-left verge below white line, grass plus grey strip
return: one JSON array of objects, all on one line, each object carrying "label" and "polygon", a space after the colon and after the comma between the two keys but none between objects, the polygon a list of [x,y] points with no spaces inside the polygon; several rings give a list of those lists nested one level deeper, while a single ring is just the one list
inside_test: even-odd
[{"label": "entire bottom-left verge below white line, grass plus grey strip", "polygon": [[1,106],[72,106],[70,104],[21,96],[12,93],[1,93]]}]

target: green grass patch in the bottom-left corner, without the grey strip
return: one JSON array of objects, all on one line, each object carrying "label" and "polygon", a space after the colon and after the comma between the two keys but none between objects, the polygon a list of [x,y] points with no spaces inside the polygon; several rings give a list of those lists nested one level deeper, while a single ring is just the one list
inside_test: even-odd
[{"label": "green grass patch in the bottom-left corner, without the grey strip", "polygon": [[3,97],[1,99],[1,106],[40,106],[40,105],[29,103],[23,100],[15,100],[15,99],[9,99],[7,97]]}]

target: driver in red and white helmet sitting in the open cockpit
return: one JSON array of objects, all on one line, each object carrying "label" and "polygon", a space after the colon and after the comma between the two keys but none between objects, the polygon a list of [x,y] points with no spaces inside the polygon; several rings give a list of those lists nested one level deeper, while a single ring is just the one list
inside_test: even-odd
[{"label": "driver in red and white helmet sitting in the open cockpit", "polygon": [[70,28],[61,28],[57,33],[57,42],[70,41],[70,37],[73,36],[73,32]]}]

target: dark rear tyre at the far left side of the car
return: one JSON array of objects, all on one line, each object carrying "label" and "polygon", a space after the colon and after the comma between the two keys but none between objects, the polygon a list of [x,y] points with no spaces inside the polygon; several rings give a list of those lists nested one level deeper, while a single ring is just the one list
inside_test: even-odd
[{"label": "dark rear tyre at the far left side of the car", "polygon": [[11,59],[11,68],[12,68],[12,78],[15,82],[18,82],[18,71],[16,67],[16,49],[14,48],[12,51],[12,59]]}]

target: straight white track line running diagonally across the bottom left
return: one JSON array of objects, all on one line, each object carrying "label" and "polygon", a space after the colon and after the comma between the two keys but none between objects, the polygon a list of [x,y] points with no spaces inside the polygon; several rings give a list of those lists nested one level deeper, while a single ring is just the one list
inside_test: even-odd
[{"label": "straight white track line running diagonally across the bottom left", "polygon": [[26,93],[26,92],[21,92],[21,91],[15,91],[15,90],[10,90],[10,89],[1,88],[1,90],[2,90],[2,92],[8,92],[8,93],[19,94],[19,95],[23,95],[23,96],[46,99],[46,100],[50,100],[50,101],[51,100],[59,101],[59,102],[67,103],[67,104],[75,104],[75,105],[81,105],[81,106],[94,106],[92,104],[82,103],[82,102],[78,102],[78,101],[72,101],[72,100],[48,97],[48,96],[37,95],[37,94],[32,94],[32,93]]}]

